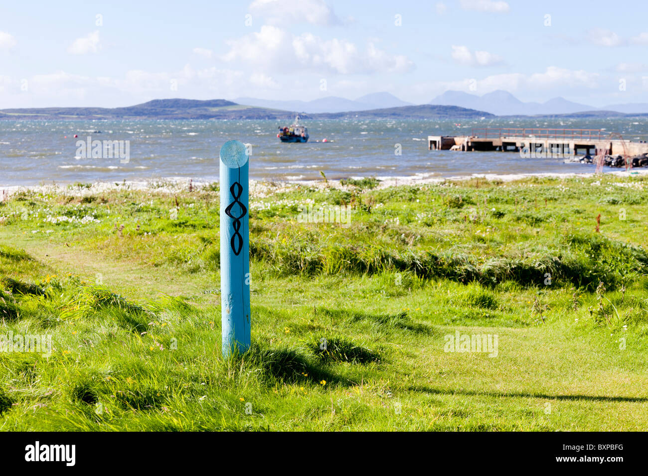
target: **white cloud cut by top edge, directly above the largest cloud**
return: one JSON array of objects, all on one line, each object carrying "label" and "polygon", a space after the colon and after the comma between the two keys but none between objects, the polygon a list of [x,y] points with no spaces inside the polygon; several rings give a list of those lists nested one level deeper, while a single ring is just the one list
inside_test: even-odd
[{"label": "white cloud cut by top edge, directly above the largest cloud", "polygon": [[254,0],[249,10],[266,18],[271,25],[310,23],[312,25],[338,25],[340,18],[323,0]]}]

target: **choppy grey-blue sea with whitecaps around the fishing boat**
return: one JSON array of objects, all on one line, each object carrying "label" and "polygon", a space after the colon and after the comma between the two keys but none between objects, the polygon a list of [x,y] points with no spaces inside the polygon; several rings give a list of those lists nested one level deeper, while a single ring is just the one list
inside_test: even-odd
[{"label": "choppy grey-blue sea with whitecaps around the fishing boat", "polygon": [[[592,164],[515,152],[428,150],[428,135],[472,128],[602,129],[648,140],[648,118],[301,120],[310,139],[282,143],[277,120],[0,120],[0,187],[157,179],[218,180],[219,150],[249,144],[249,176],[267,181],[594,173]],[[75,135],[78,137],[75,138]],[[122,141],[122,157],[93,157],[90,141]],[[128,148],[126,148],[128,145]],[[87,149],[87,150],[86,150]],[[606,168],[606,171],[618,170]]]}]

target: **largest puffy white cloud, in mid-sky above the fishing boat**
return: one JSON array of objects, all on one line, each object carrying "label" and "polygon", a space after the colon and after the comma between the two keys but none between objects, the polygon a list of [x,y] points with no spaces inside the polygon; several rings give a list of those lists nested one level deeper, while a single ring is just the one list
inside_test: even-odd
[{"label": "largest puffy white cloud, in mid-sky above the fishing boat", "polygon": [[242,61],[257,69],[281,73],[403,73],[413,68],[406,56],[382,51],[373,41],[361,51],[347,40],[322,40],[310,33],[295,36],[272,25],[227,44],[230,50],[222,60]]}]

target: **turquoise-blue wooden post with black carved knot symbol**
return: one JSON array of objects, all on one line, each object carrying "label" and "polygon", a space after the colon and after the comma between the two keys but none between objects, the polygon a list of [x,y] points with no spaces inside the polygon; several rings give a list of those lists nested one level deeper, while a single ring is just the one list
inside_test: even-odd
[{"label": "turquoise-blue wooden post with black carved knot symbol", "polygon": [[220,148],[220,303],[223,356],[250,343],[248,153],[239,141]]}]

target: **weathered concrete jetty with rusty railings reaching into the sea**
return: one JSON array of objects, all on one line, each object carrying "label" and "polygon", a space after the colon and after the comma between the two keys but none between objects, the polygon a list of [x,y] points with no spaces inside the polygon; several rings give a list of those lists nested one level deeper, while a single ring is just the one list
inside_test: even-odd
[{"label": "weathered concrete jetty with rusty railings reaching into the sea", "polygon": [[602,129],[472,128],[470,135],[428,136],[429,150],[519,152],[524,148],[549,154],[597,155],[605,151],[610,155],[632,156],[648,153],[648,143],[628,141],[618,133]]}]

